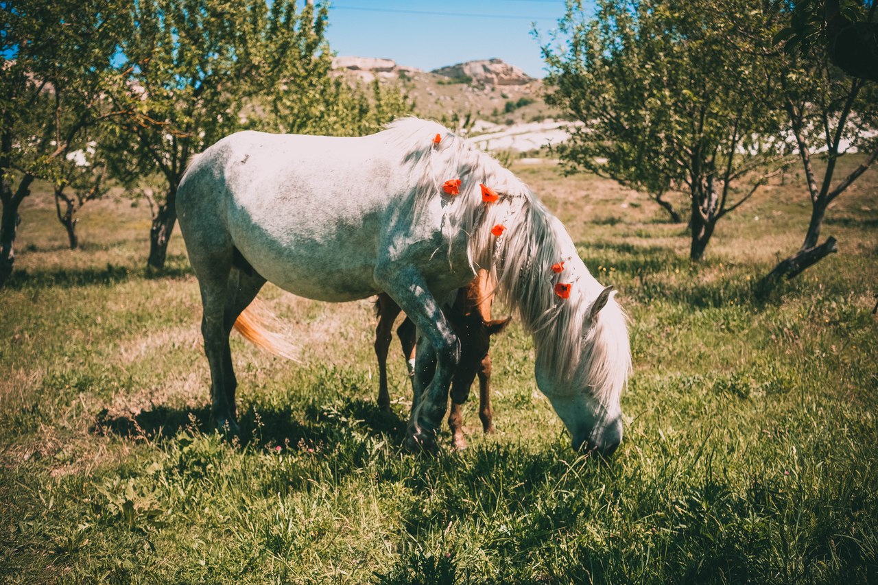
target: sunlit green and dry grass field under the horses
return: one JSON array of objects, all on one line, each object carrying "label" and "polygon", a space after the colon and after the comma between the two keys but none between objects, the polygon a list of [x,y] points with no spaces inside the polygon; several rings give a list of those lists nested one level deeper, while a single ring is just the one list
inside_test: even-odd
[{"label": "sunlit green and dry grass field under the horses", "polygon": [[685,226],[644,196],[515,170],[630,314],[609,463],[570,450],[515,323],[493,343],[497,433],[470,405],[469,449],[408,454],[396,353],[393,415],[375,406],[370,301],[270,286],[301,363],[233,336],[242,437],[228,444],[209,430],[179,235],[150,273],[148,210],[106,200],[70,251],[40,191],[0,292],[0,579],[878,582],[878,171],[828,214],[839,253],[757,299],[802,241],[800,177],[723,219],[693,266]]}]

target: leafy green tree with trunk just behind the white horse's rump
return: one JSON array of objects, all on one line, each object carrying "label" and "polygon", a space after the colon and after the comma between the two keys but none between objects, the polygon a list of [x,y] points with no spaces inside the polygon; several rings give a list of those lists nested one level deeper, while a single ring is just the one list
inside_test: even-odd
[{"label": "leafy green tree with trunk just behind the white horse's rump", "polygon": [[289,0],[143,0],[130,10],[137,26],[122,43],[128,75],[115,99],[132,115],[119,136],[122,161],[112,167],[126,170],[119,178],[128,182],[162,177],[148,256],[161,268],[176,224],[177,185],[192,156],[259,116],[252,99],[275,90],[292,61],[299,75],[285,80],[287,90],[313,83],[326,11],[314,15],[307,5],[297,12]]}]

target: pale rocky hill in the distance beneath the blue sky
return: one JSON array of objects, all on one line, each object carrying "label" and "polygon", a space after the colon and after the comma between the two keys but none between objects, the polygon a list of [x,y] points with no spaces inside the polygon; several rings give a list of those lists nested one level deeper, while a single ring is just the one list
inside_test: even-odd
[{"label": "pale rocky hill in the distance beneath the blue sky", "polygon": [[335,57],[333,70],[353,83],[399,84],[417,115],[478,137],[486,150],[530,151],[567,136],[543,100],[543,83],[500,59],[424,71],[391,59]]}]

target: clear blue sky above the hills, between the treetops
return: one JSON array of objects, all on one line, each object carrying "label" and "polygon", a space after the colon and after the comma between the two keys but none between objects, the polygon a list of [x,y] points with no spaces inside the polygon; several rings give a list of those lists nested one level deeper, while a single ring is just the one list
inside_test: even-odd
[{"label": "clear blue sky above the hills, between the treetops", "polygon": [[533,25],[545,33],[564,15],[564,0],[333,0],[330,47],[339,55],[382,57],[436,69],[499,57],[544,76]]}]

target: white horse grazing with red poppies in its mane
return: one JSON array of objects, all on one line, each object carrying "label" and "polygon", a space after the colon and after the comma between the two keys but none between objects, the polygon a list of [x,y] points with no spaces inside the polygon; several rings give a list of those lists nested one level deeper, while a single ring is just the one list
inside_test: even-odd
[{"label": "white horse grazing with red poppies in its mane", "polygon": [[[609,454],[622,440],[630,347],[612,287],[520,180],[443,126],[409,118],[362,138],[232,134],[192,164],[176,205],[220,427],[237,430],[229,333],[270,280],[331,302],[384,292],[402,307],[421,336],[407,446],[435,449],[459,352],[441,305],[485,268],[533,335],[536,384],[573,448]],[[263,336],[248,323],[248,337]]]}]

